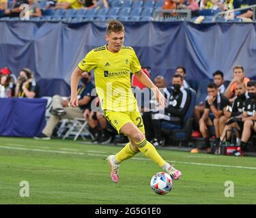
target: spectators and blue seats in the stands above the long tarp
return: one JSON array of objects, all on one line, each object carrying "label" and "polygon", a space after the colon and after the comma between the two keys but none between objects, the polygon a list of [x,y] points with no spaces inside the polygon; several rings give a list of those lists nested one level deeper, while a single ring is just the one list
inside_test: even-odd
[{"label": "spectators and blue seats in the stands above the long tarp", "polygon": [[[256,0],[0,0],[0,18],[19,17],[20,12],[23,11],[23,7],[20,7],[20,5],[23,3],[29,5],[29,16],[31,18],[48,16],[48,9],[99,10],[100,8],[105,8],[109,10],[110,8],[115,8],[116,11],[119,9],[119,13],[109,13],[108,16],[107,11],[102,11],[99,16],[109,19],[111,16],[124,18],[130,14],[134,18],[145,16],[147,20],[150,20],[154,15],[154,10],[191,10],[193,16],[213,16],[218,12],[227,12],[228,10],[255,5]],[[131,9],[135,7],[140,10],[132,12]],[[152,10],[145,13],[142,12],[142,9],[147,7]],[[123,8],[127,10],[124,10],[124,12],[120,10]],[[51,15],[54,16],[54,13]],[[173,17],[176,15],[171,13]],[[233,20],[235,17],[249,21],[253,19],[253,9],[225,14],[225,19],[227,20]]]}]

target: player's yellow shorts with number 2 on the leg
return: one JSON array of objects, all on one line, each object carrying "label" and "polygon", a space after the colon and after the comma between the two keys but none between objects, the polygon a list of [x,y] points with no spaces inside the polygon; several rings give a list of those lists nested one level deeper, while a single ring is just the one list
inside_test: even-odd
[{"label": "player's yellow shorts with number 2 on the leg", "polygon": [[139,111],[115,112],[103,110],[103,113],[106,120],[117,130],[118,134],[126,123],[134,123],[145,134],[143,120]]}]

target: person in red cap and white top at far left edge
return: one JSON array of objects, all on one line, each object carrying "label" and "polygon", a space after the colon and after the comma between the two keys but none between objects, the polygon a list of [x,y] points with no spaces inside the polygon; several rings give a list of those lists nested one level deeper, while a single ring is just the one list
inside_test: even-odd
[{"label": "person in red cap and white top at far left edge", "polygon": [[12,82],[11,72],[8,67],[0,70],[0,97],[12,97],[15,94],[15,87]]}]

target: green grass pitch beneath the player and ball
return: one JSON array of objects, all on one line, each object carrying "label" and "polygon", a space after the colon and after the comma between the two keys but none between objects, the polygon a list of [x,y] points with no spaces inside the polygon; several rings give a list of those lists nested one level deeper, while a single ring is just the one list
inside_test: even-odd
[{"label": "green grass pitch beneath the player and ball", "polygon": [[[139,154],[122,163],[120,182],[109,176],[107,155],[120,146],[72,140],[0,138],[0,204],[256,204],[256,158],[158,150],[184,176],[158,196],[150,179],[162,171]],[[29,182],[21,198],[20,181]],[[225,197],[225,182],[234,197]]]}]

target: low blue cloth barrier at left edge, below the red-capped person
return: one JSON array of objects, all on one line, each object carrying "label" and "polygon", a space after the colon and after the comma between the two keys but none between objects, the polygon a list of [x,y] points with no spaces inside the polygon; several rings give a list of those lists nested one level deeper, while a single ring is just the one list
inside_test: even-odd
[{"label": "low blue cloth barrier at left edge, below the red-capped person", "polygon": [[46,99],[0,98],[0,136],[39,136],[46,124]]}]

